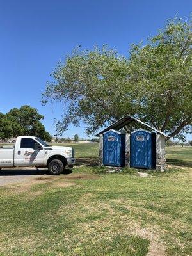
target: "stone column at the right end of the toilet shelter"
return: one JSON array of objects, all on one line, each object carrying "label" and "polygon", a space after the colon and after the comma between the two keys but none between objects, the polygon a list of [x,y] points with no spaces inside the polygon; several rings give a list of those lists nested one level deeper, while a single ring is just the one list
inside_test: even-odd
[{"label": "stone column at the right end of the toilet shelter", "polygon": [[156,170],[164,171],[166,168],[165,137],[157,134],[156,137]]}]

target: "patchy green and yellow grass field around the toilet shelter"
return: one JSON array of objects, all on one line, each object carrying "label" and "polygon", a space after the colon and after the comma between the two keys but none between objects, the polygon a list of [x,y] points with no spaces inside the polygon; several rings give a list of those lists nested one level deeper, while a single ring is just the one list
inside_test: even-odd
[{"label": "patchy green and yellow grass field around the toilet shelter", "polygon": [[192,147],[140,177],[105,173],[97,144],[72,146],[72,173],[0,187],[0,255],[191,255]]}]

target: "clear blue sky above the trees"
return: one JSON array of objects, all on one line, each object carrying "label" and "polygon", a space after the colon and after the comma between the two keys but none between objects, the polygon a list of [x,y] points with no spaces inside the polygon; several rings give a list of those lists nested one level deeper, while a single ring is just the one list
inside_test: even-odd
[{"label": "clear blue sky above the trees", "polygon": [[[54,134],[61,106],[42,106],[49,74],[76,45],[108,44],[126,55],[161,28],[166,19],[189,17],[191,0],[0,0],[0,111],[29,104],[44,115]],[[64,134],[85,137],[84,125]],[[188,137],[189,138],[189,137]]]}]

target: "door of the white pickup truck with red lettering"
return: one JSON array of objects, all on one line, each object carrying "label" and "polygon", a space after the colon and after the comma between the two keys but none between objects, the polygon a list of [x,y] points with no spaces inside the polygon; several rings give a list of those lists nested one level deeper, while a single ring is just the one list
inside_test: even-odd
[{"label": "door of the white pickup truck with red lettering", "polygon": [[[15,148],[15,165],[20,166],[42,166],[44,163],[45,150],[35,150],[36,140],[33,138],[21,138],[20,148]],[[40,144],[39,144],[40,145]],[[41,145],[40,145],[41,146]]]}]

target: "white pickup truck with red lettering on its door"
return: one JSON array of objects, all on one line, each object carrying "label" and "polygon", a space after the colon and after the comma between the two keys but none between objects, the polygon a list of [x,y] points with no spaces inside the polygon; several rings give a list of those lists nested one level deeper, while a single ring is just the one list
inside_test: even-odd
[{"label": "white pickup truck with red lettering on its door", "polygon": [[0,148],[0,169],[12,167],[29,167],[49,169],[51,174],[58,175],[65,166],[75,163],[74,150],[71,147],[49,146],[40,138],[19,136],[15,146]]}]

